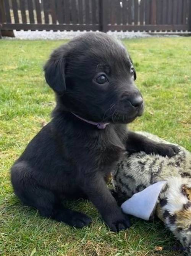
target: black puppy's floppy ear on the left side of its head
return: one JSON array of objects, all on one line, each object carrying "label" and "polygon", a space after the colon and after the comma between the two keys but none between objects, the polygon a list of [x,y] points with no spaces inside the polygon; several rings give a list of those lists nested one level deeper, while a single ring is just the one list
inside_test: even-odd
[{"label": "black puppy's floppy ear on the left side of its head", "polygon": [[59,95],[63,95],[66,90],[65,65],[66,58],[58,49],[52,53],[44,66],[47,84]]}]

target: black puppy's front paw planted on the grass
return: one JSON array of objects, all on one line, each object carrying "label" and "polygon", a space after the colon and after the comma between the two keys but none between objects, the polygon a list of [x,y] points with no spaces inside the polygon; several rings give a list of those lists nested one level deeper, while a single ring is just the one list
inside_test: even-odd
[{"label": "black puppy's front paw planted on the grass", "polygon": [[105,218],[105,223],[113,232],[126,230],[130,227],[129,217],[128,215],[123,214],[122,211],[119,211],[117,214],[107,216],[107,218]]}]

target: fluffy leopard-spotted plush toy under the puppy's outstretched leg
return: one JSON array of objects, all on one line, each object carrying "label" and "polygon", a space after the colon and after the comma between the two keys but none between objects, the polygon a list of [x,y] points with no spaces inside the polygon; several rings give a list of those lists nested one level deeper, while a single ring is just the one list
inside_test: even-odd
[{"label": "fluffy leopard-spotted plush toy under the puppy's outstretched leg", "polygon": [[[139,133],[157,142],[169,143],[155,135]],[[141,212],[140,204],[148,205],[149,200],[154,200],[153,192],[158,190],[150,218],[157,215],[191,255],[191,152],[178,147],[180,152],[172,158],[144,152],[125,153],[112,174],[112,181],[121,201],[130,198],[122,204],[122,210],[135,216]],[[141,196],[145,204],[142,198],[139,200]],[[135,213],[126,211],[125,206],[129,208],[132,204],[130,200],[133,201],[130,208]],[[149,202],[149,205],[152,204]]]}]

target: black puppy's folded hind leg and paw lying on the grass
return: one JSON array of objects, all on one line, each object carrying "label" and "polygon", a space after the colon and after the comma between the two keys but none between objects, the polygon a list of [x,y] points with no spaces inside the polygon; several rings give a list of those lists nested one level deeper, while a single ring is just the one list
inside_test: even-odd
[{"label": "black puppy's folded hind leg and paw lying on the grass", "polygon": [[[27,172],[26,172],[27,168]],[[89,225],[91,219],[84,213],[65,208],[51,190],[36,184],[30,176],[30,167],[23,162],[17,163],[11,170],[11,181],[20,200],[39,210],[41,216],[82,228]]]}]

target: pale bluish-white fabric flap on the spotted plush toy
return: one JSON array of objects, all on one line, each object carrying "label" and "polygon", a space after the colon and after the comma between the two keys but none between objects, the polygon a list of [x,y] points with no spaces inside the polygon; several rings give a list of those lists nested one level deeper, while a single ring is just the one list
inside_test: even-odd
[{"label": "pale bluish-white fabric flap on the spotted plush toy", "polygon": [[156,182],[141,192],[134,194],[131,198],[122,203],[122,211],[143,220],[149,220],[157,203],[160,191],[165,183],[167,183],[167,181]]}]

